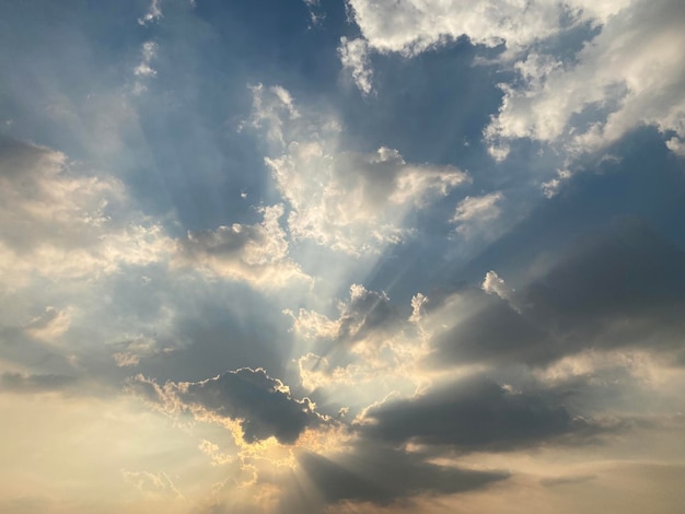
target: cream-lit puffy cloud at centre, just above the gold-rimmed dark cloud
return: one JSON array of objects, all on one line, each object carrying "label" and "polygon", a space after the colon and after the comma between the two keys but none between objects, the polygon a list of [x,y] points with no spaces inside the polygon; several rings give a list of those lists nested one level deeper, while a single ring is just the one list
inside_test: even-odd
[{"label": "cream-lit puffy cloud at centre, just above the gold-rimmed dark cloud", "polygon": [[302,386],[334,396],[344,387],[342,396],[356,397],[356,404],[373,400],[369,387],[376,394],[411,393],[422,382],[416,367],[428,351],[418,326],[426,302],[422,294],[415,295],[414,312],[405,318],[384,292],[352,284],[349,299],[337,303],[337,317],[286,311],[293,331],[312,344],[297,360]]}]

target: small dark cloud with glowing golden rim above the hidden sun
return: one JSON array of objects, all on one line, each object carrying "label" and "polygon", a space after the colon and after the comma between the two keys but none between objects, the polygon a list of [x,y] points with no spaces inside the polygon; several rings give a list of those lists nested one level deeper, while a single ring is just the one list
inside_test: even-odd
[{"label": "small dark cloud with glowing golden rim above the hidden sun", "polygon": [[291,444],[307,427],[325,421],[314,412],[309,398],[293,398],[281,381],[270,377],[263,369],[243,367],[201,382],[167,382],[164,386],[138,375],[130,386],[167,411],[240,420],[248,443],[275,436]]}]

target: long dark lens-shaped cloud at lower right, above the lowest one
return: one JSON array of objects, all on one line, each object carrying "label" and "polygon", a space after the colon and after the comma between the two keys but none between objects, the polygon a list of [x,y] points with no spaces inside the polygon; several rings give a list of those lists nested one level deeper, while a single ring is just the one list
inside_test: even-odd
[{"label": "long dark lens-shaped cloud at lower right, above the lowest one", "polygon": [[463,451],[510,449],[588,431],[588,422],[574,419],[558,400],[472,377],[423,396],[374,406],[359,429],[376,441]]}]

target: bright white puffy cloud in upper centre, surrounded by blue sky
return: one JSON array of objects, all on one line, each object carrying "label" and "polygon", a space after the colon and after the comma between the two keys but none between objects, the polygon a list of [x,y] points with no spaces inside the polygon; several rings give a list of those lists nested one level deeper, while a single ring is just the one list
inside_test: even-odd
[{"label": "bright white puffy cloud in upper centre, surrounded by blue sky", "polygon": [[266,125],[274,143],[266,163],[290,207],[288,227],[294,238],[349,254],[378,252],[406,237],[407,212],[468,180],[454,166],[408,163],[394,149],[370,154],[340,150],[334,118],[300,114],[282,89],[253,93],[251,122]]}]

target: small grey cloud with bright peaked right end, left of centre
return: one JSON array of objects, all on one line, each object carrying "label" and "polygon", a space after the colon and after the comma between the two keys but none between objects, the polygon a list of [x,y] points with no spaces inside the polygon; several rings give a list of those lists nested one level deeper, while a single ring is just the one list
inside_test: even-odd
[{"label": "small grey cloud with bright peaked right end, left of centre", "polygon": [[267,288],[306,281],[309,277],[288,257],[287,234],[278,221],[283,207],[266,207],[262,213],[262,223],[254,225],[188,231],[185,238],[176,241],[176,264],[199,265],[219,277]]}]

